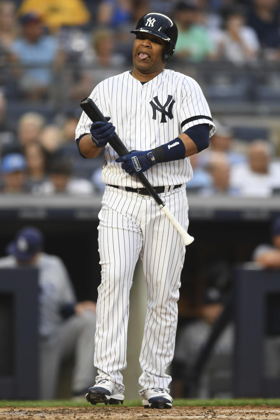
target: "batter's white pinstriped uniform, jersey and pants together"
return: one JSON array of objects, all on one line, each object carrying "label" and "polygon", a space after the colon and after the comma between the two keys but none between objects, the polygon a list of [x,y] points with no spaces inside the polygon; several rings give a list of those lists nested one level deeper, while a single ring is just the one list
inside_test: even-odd
[{"label": "batter's white pinstriped uniform, jersey and pants together", "polygon": [[[126,71],[98,84],[90,97],[103,115],[111,117],[128,150],[158,147],[197,124],[209,124],[210,136],[215,132],[199,85],[190,77],[172,70],[163,70],[145,84]],[[167,104],[165,108],[158,108],[164,104]],[[170,109],[168,104],[173,104]],[[89,118],[82,113],[76,139],[90,132],[90,124]],[[171,377],[165,370],[174,353],[185,246],[178,231],[153,199],[109,186],[142,186],[135,176],[123,171],[121,164],[115,162],[116,157],[107,144],[102,171],[102,181],[107,186],[98,227],[102,281],[97,300],[96,380],[109,379],[120,392],[124,390],[121,370],[126,367],[129,291],[140,256],[148,305],[139,359],[143,373],[139,383],[143,389],[168,390]],[[153,186],[183,184],[181,188],[161,195],[171,213],[187,230],[188,205],[184,184],[192,178],[189,160],[154,165],[146,175]]]}]

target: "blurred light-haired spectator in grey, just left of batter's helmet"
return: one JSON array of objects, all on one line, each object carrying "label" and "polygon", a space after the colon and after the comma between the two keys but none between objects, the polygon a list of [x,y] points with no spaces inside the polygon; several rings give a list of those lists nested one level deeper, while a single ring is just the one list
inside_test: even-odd
[{"label": "blurred light-haired spectator in grey, just left of batter's helmet", "polygon": [[80,75],[78,82],[71,85],[69,95],[73,99],[87,96],[89,86],[96,86],[105,77],[115,75],[118,72],[116,67],[126,61],[123,55],[115,52],[114,35],[109,29],[99,29],[93,33],[92,47],[85,50],[81,58],[81,68],[87,70]]}]

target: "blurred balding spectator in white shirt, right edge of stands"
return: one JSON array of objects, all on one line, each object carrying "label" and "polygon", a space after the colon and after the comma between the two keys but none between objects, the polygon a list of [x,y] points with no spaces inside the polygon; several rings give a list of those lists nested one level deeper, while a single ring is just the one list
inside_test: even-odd
[{"label": "blurred balding spectator in white shirt, right edge of stands", "polygon": [[248,163],[232,168],[230,186],[241,196],[269,197],[280,188],[280,164],[271,161],[270,146],[256,140],[248,147]]}]

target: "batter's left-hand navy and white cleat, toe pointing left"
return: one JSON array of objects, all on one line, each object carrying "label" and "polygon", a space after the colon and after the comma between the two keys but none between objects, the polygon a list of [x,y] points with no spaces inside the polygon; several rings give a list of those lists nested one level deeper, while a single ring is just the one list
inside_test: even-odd
[{"label": "batter's left-hand navy and white cleat, toe pointing left", "polygon": [[124,395],[120,393],[115,383],[108,379],[101,379],[86,391],[86,401],[92,405],[98,402],[107,404],[123,404]]}]

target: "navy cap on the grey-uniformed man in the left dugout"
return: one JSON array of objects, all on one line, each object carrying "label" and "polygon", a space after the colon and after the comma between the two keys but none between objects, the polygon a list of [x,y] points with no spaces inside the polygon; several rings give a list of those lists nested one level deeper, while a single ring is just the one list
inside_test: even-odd
[{"label": "navy cap on the grey-uniformed man in the left dugout", "polygon": [[18,260],[28,261],[42,249],[42,245],[42,233],[36,228],[26,227],[21,229],[15,239],[8,244],[6,252],[14,255]]}]

